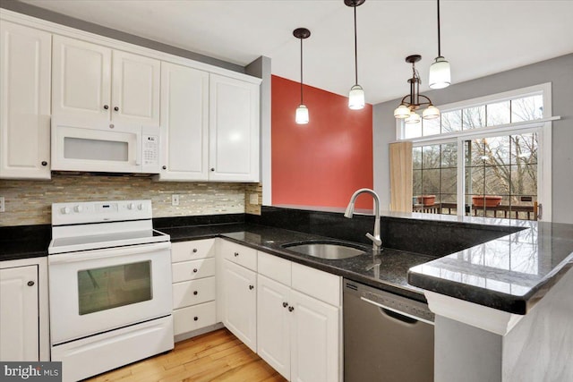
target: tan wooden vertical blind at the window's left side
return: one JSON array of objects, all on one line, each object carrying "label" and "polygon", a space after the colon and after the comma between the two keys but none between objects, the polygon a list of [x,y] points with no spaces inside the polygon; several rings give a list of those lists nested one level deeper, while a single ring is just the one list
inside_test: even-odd
[{"label": "tan wooden vertical blind at the window's left side", "polygon": [[389,144],[390,211],[412,212],[412,142]]}]

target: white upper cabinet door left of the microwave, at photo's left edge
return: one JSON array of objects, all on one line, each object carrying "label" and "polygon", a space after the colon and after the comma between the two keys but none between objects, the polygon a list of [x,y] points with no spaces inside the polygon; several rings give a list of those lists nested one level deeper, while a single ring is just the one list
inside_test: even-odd
[{"label": "white upper cabinet door left of the microwave, at photo's left edge", "polygon": [[0,178],[50,179],[52,36],[0,21]]}]

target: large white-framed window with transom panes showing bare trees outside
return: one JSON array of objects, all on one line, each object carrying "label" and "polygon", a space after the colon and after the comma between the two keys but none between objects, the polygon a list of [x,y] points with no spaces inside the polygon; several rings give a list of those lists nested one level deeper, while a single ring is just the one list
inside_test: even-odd
[{"label": "large white-framed window with transom panes showing bare trees outside", "polygon": [[551,84],[440,110],[397,124],[414,144],[415,212],[535,220],[543,201],[551,219]]}]

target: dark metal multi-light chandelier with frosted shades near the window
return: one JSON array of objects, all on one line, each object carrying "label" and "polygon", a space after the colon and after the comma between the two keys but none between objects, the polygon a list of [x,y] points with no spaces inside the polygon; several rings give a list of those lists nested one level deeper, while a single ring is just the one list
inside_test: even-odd
[{"label": "dark metal multi-light chandelier with frosted shades near the window", "polygon": [[421,117],[416,113],[420,106],[427,107],[423,110],[423,119],[433,119],[440,116],[438,107],[432,105],[430,98],[420,94],[420,75],[415,70],[415,63],[422,59],[421,55],[408,55],[406,63],[412,64],[412,78],[408,79],[410,84],[410,94],[406,94],[400,101],[400,106],[394,110],[394,116],[398,119],[403,119],[406,123],[419,123]]}]

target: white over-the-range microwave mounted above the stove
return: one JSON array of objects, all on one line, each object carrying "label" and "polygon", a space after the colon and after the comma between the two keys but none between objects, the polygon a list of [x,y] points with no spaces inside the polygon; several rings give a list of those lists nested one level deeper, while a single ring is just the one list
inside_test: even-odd
[{"label": "white over-the-range microwave mounted above the stove", "polygon": [[52,117],[52,170],[159,173],[159,126]]}]

